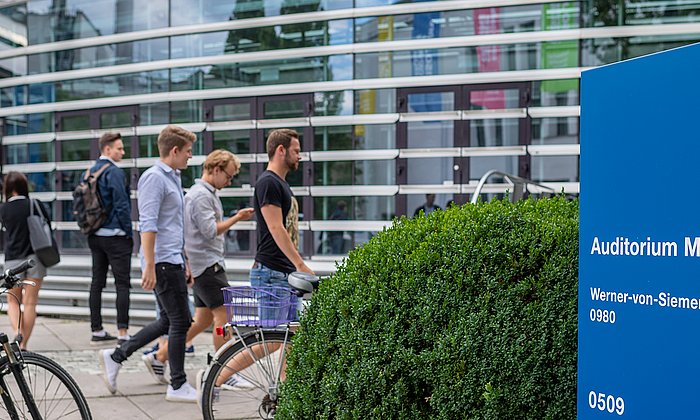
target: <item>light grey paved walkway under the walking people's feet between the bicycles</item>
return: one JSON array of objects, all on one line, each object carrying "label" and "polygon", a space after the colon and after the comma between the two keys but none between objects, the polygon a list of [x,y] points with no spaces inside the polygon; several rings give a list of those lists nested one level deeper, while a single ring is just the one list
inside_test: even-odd
[{"label": "light grey paved walkway under the walking people's feet between the bicycles", "polygon": [[[115,327],[112,327],[116,333]],[[0,316],[0,331],[11,333],[7,315]],[[138,328],[131,328],[134,334]],[[11,334],[10,334],[11,335]],[[211,334],[202,333],[194,341],[195,354],[185,360],[190,384],[194,384],[197,371],[206,365],[207,353],[213,351]],[[90,323],[65,319],[37,318],[29,342],[29,350],[41,353],[61,364],[88,399],[95,419],[201,419],[197,404],[165,401],[166,385],[156,384],[146,372],[141,352],[134,353],[124,362],[117,380],[119,391],[109,393],[102,380],[99,350],[111,345],[90,344]]]}]

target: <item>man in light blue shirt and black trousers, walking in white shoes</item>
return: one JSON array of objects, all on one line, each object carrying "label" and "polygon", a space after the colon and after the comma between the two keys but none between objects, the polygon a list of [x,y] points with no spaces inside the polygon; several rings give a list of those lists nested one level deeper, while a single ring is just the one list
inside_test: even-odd
[{"label": "man in light blue shirt and black trousers, walking in white shoes", "polygon": [[105,383],[115,393],[121,362],[144,345],[168,334],[170,385],[168,401],[196,402],[197,391],[185,374],[185,336],[192,323],[187,286],[191,281],[184,254],[184,197],[180,170],[187,168],[196,136],[169,125],[158,136],[160,159],[138,183],[141,231],[141,287],[154,290],[160,318],[145,326],[121,347],[103,350]]}]

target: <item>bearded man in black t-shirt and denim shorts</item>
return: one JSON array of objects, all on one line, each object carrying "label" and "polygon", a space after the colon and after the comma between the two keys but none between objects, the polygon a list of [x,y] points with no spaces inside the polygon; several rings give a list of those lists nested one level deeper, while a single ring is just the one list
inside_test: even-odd
[{"label": "bearded man in black t-shirt and denim shorts", "polygon": [[274,130],[267,137],[267,170],[255,183],[253,207],[258,248],[250,270],[252,286],[289,287],[293,271],[313,273],[297,251],[299,206],[285,178],[299,167],[301,145],[294,130]]}]

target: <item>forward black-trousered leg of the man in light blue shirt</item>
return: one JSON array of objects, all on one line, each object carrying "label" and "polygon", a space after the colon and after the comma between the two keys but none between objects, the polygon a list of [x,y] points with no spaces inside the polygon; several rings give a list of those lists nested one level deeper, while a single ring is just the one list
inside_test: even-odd
[{"label": "forward black-trousered leg of the man in light blue shirt", "polygon": [[[170,384],[174,390],[187,382],[185,374],[185,337],[192,324],[184,270],[177,265],[156,265],[158,303],[170,320],[168,359]],[[161,313],[161,317],[162,317]]]}]

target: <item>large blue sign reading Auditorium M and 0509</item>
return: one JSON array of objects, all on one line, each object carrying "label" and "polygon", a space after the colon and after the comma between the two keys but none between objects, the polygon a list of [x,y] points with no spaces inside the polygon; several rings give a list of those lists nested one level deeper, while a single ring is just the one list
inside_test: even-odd
[{"label": "large blue sign reading Auditorium M and 0509", "polygon": [[700,418],[700,44],[581,77],[579,419]]}]

